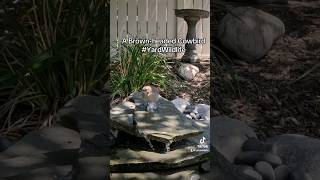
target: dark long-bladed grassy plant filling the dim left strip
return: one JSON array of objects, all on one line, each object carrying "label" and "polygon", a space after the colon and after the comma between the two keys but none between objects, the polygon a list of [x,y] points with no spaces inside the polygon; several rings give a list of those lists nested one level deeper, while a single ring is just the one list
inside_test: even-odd
[{"label": "dark long-bladed grassy plant filling the dim left strip", "polygon": [[69,99],[99,94],[108,79],[107,6],[107,0],[33,0],[6,17],[0,134],[51,122]]}]

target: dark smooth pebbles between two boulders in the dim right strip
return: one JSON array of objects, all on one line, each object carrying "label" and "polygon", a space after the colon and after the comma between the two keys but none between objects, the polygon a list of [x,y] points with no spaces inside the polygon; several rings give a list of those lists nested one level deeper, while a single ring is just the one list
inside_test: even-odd
[{"label": "dark smooth pebbles between two boulders in the dim right strip", "polygon": [[312,180],[304,170],[293,170],[277,154],[277,146],[249,138],[234,160],[244,174],[257,180]]}]

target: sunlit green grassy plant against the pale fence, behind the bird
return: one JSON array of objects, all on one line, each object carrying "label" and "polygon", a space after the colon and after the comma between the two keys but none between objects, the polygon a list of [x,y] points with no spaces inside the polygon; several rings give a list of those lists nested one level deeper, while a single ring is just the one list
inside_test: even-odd
[{"label": "sunlit green grassy plant against the pale fence, behind the bird", "polygon": [[163,56],[142,52],[143,44],[121,44],[111,60],[113,95],[125,97],[147,84],[165,88],[170,70]]}]

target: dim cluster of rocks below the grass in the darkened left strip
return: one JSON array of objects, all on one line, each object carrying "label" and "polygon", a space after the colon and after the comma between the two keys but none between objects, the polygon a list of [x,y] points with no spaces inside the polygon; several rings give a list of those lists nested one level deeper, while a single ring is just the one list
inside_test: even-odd
[{"label": "dim cluster of rocks below the grass in the darkened left strip", "polygon": [[106,105],[102,97],[79,96],[58,111],[52,127],[14,144],[0,139],[0,179],[108,179]]}]

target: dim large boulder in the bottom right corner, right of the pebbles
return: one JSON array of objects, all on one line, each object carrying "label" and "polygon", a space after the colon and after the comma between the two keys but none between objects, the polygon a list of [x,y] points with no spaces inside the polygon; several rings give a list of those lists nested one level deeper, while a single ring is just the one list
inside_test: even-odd
[{"label": "dim large boulder in the bottom right corner, right of the pebbles", "polygon": [[307,173],[312,179],[320,177],[320,140],[286,134],[272,137],[267,142],[275,145],[276,153],[290,169]]}]

